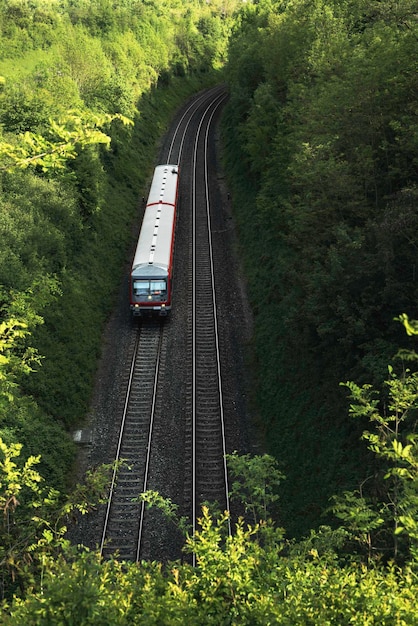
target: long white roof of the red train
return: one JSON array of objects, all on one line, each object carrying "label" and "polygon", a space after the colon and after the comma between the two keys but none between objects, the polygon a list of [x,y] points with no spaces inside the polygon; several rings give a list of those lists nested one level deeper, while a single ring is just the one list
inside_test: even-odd
[{"label": "long white roof of the red train", "polygon": [[165,277],[168,274],[175,227],[177,181],[177,165],[159,165],[155,168],[132,264],[133,277]]}]

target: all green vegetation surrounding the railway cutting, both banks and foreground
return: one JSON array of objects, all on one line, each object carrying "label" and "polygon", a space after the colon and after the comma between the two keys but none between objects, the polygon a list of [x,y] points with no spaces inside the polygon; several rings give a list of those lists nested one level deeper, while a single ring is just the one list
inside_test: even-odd
[{"label": "all green vegetation surrounding the railway cutting, both banks and foreground", "polygon": [[[0,34],[3,621],[416,624],[414,0],[5,0]],[[70,490],[68,433],[158,138],[226,58],[254,403],[280,469],[229,458],[245,520],[229,537],[205,509],[197,568],[101,563],[65,533],[108,468]]]}]

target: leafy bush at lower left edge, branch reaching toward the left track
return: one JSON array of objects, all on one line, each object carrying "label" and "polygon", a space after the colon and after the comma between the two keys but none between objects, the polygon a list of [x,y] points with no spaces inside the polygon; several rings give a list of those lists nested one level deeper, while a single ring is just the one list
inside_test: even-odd
[{"label": "leafy bush at lower left edge, branch reaching toward the left track", "polygon": [[67,521],[104,501],[112,468],[103,466],[86,475],[66,500],[45,484],[38,471],[39,456],[22,458],[22,444],[0,438],[0,575],[1,599],[24,593],[42,581],[54,559],[70,550]]}]

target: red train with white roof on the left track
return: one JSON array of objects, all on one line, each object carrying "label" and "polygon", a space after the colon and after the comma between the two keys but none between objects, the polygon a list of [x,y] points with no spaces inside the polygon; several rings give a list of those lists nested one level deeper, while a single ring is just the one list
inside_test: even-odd
[{"label": "red train with white roof on the left track", "polygon": [[171,310],[178,195],[178,165],[157,165],[130,273],[134,317],[167,316]]}]

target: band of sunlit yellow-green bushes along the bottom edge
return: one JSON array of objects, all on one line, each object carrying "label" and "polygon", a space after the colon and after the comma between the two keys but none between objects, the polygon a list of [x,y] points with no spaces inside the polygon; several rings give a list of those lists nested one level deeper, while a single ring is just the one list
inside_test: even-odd
[{"label": "band of sunlit yellow-green bushes along the bottom edge", "polygon": [[16,599],[5,624],[414,624],[418,581],[393,567],[338,565],[312,548],[289,557],[266,550],[256,529],[216,523],[204,509],[189,549],[198,567],[170,563],[102,562],[81,552],[45,571],[42,589]]}]

